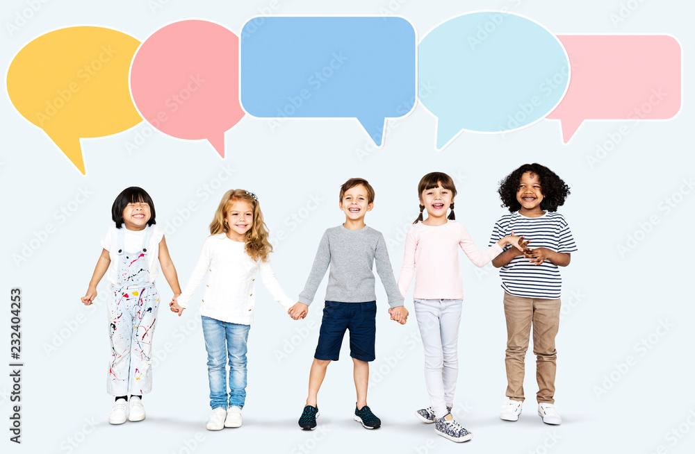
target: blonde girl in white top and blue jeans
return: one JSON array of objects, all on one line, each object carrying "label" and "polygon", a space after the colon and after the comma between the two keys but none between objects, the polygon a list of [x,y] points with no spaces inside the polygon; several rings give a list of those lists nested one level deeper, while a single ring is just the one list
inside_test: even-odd
[{"label": "blonde girl in white top and blue jeans", "polygon": [[263,285],[285,310],[294,304],[275,278],[270,264],[271,251],[258,197],[245,190],[227,191],[215,212],[210,236],[203,243],[186,289],[170,303],[171,310],[181,316],[196,289],[207,279],[200,314],[208,353],[212,407],[208,430],[241,426],[256,271],[260,271]]}]

